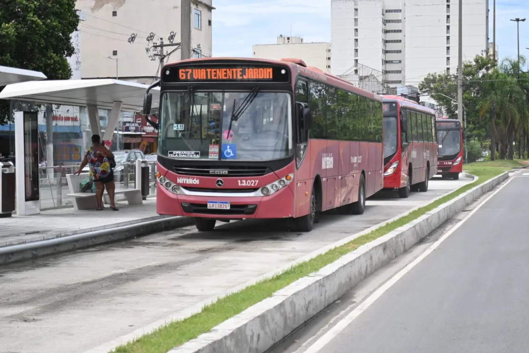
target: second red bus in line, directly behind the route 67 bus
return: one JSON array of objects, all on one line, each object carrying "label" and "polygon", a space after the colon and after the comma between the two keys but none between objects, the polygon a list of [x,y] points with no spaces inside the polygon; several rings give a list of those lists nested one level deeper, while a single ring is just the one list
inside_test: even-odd
[{"label": "second red bus in line, directly behind the route 67 bus", "polygon": [[384,96],[384,188],[428,191],[437,173],[435,111],[398,96]]}]

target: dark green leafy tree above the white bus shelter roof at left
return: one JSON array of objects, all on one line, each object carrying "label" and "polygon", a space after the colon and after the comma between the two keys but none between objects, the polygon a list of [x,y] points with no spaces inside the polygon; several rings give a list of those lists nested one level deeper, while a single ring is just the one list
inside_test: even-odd
[{"label": "dark green leafy tree above the white bus shelter roof at left", "polygon": [[[67,58],[74,54],[70,35],[79,24],[75,3],[75,0],[2,0],[0,65],[41,71],[48,79],[69,79]],[[0,124],[9,118],[8,102],[0,101]]]}]

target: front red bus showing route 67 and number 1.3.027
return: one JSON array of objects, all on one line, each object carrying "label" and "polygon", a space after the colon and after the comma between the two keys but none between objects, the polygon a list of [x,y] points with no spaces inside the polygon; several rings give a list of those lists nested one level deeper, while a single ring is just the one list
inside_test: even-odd
[{"label": "front red bus showing route 67 and number 1.3.027", "polygon": [[[216,221],[362,214],[382,178],[382,99],[303,60],[201,58],[162,68],[157,212]],[[158,124],[154,128],[158,128]]]}]

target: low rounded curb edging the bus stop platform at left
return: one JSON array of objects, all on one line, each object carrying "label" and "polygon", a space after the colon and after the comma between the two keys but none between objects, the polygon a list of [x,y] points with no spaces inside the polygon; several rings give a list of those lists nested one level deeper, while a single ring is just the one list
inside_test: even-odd
[{"label": "low rounded curb edging the bus stop platform at left", "polygon": [[64,237],[33,241],[0,248],[0,265],[10,264],[45,255],[78,250],[117,240],[146,236],[152,233],[186,227],[194,224],[188,217],[168,217],[129,225],[117,226]]}]

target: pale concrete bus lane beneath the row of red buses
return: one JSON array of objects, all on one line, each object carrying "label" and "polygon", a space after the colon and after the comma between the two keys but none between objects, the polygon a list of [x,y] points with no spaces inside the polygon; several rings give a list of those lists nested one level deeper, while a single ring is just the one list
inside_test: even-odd
[{"label": "pale concrete bus lane beneath the row of red buses", "polygon": [[80,353],[104,345],[469,182],[434,178],[428,192],[407,199],[377,194],[363,215],[324,214],[309,233],[262,220],[203,233],[187,227],[0,267],[0,352]]}]

